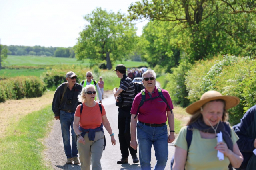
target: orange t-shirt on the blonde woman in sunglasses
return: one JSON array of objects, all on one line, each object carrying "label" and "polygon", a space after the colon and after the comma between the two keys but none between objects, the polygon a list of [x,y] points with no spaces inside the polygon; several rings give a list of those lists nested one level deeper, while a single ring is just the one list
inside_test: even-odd
[{"label": "orange t-shirt on the blonde woman in sunglasses", "polygon": [[98,102],[94,107],[88,107],[83,103],[82,115],[80,114],[81,105],[76,107],[75,116],[80,117],[79,125],[84,129],[95,129],[100,127],[102,123],[102,116],[106,115],[104,106],[102,106],[102,114],[100,113],[100,106]]}]

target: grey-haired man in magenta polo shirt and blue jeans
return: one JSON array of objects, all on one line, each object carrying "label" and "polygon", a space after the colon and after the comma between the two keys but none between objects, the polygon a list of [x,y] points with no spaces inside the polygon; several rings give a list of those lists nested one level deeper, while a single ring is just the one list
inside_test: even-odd
[{"label": "grey-haired man in magenta polo shirt and blue jeans", "polygon": [[[164,170],[168,159],[168,143],[172,143],[174,137],[174,115],[167,104],[173,109],[172,100],[169,93],[162,89],[162,94],[167,104],[159,96],[156,87],[156,73],[147,70],[142,74],[142,82],[145,86],[145,102],[139,108],[142,93],[134,98],[131,109],[131,142],[130,146],[137,149],[137,138],[140,149],[140,166],[142,170],[151,170],[151,147],[154,145],[156,152],[155,170]],[[152,100],[150,100],[152,99]],[[136,113],[138,110],[138,117]],[[166,116],[167,115],[167,116]],[[170,135],[168,136],[166,121],[168,119]],[[138,122],[137,122],[138,120]]]}]

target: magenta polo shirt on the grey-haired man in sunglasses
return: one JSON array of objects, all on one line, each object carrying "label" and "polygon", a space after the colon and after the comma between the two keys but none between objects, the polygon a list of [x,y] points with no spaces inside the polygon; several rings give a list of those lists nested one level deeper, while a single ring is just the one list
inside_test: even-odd
[{"label": "magenta polo shirt on the grey-haired man in sunglasses", "polygon": [[[171,109],[173,109],[172,100],[170,98],[168,91],[162,89],[162,93],[166,98],[167,103],[169,104]],[[150,98],[148,91],[146,89],[145,89],[145,95],[146,95],[146,100]],[[158,96],[158,90],[155,86],[155,90],[154,90],[154,93],[152,93],[151,98],[154,98],[156,96]],[[137,94],[136,97],[134,98],[134,101],[132,103],[131,114],[136,115],[141,98],[142,98],[141,93]],[[165,123],[167,121],[166,111],[170,111],[170,109],[161,98],[148,100],[148,101],[145,101],[144,104],[140,107],[139,113],[138,113],[138,120],[141,122],[150,123],[150,124]]]}]

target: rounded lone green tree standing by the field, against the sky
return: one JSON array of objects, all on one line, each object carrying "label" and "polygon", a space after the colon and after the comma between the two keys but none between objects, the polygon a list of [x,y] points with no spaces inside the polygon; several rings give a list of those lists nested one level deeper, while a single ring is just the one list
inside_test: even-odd
[{"label": "rounded lone green tree standing by the field, against the sky", "polygon": [[80,32],[74,46],[78,60],[89,58],[91,65],[106,61],[111,69],[113,61],[122,61],[136,45],[136,29],[124,14],[96,8],[84,19],[89,24]]}]

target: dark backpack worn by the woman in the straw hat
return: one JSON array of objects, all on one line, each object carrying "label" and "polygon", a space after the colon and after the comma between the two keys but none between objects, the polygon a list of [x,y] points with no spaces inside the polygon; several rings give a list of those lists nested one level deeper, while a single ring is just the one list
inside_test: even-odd
[{"label": "dark backpack worn by the woman in the straw hat", "polygon": [[[231,129],[230,129],[229,125],[227,123],[224,123],[224,126],[225,126],[225,130],[228,132],[228,134],[231,137]],[[186,141],[188,144],[188,149],[189,149],[191,141],[192,141],[192,135],[193,135],[192,126],[188,125],[187,126],[187,134],[186,134]],[[187,156],[188,156],[188,150],[187,150]],[[171,160],[171,170],[172,170],[173,163],[174,163],[174,155],[172,156],[172,160]],[[229,168],[229,170],[232,170],[231,164],[228,165],[228,168]],[[185,170],[185,168],[184,168],[184,170]]]}]

